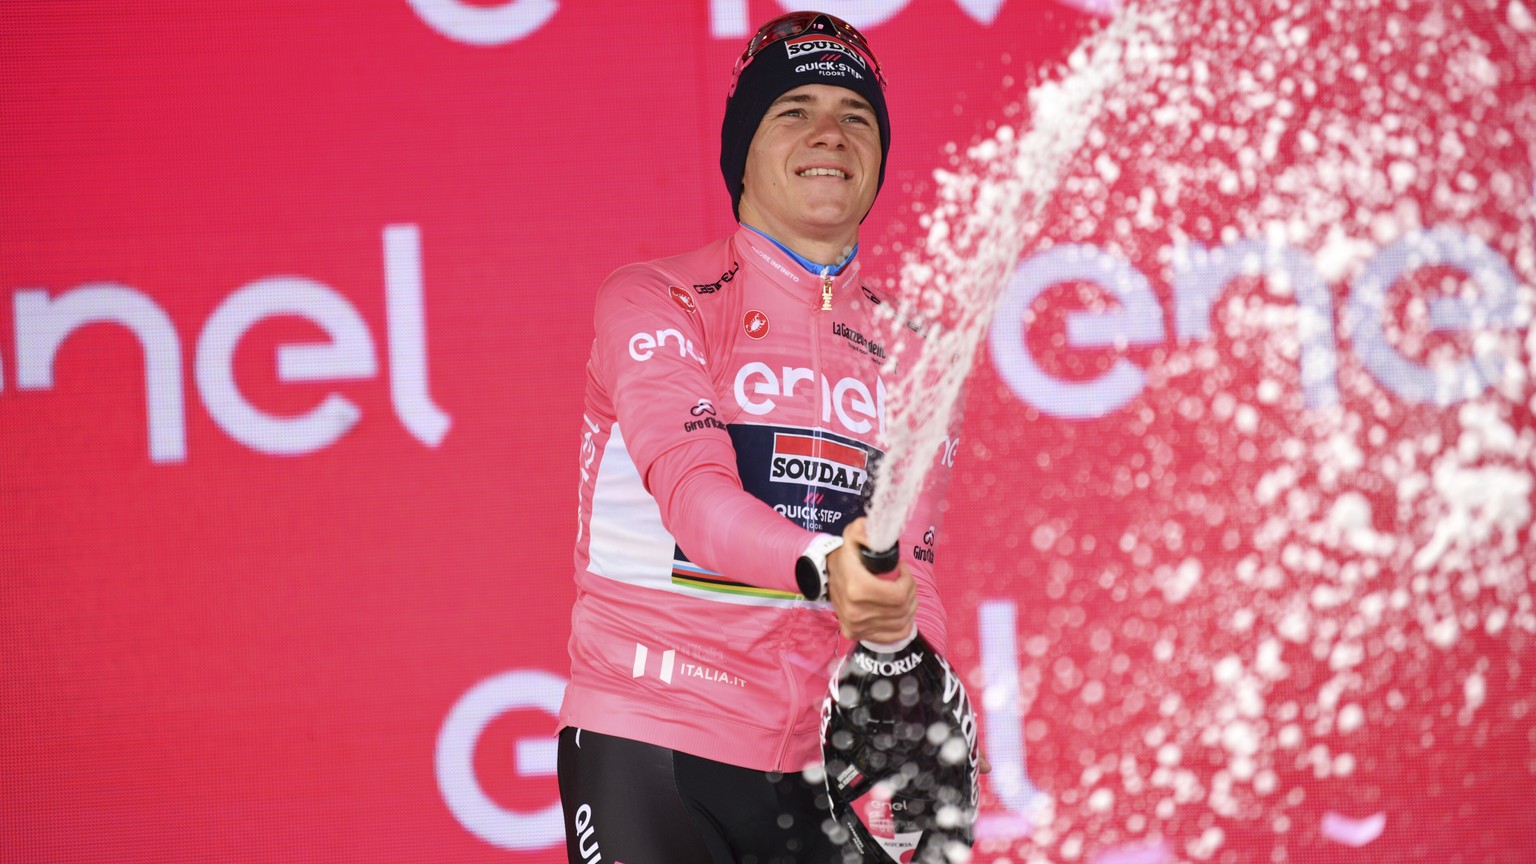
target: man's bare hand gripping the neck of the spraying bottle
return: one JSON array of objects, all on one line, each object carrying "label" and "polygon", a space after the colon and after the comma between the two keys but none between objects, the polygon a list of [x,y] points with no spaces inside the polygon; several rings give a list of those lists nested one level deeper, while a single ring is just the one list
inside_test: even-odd
[{"label": "man's bare hand gripping the neck of the spraying bottle", "polygon": [[894,573],[876,575],[859,560],[868,546],[865,520],[843,529],[843,546],[826,560],[826,595],[843,636],[871,643],[899,643],[912,635],[917,618],[917,583],[905,563]]}]

